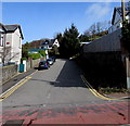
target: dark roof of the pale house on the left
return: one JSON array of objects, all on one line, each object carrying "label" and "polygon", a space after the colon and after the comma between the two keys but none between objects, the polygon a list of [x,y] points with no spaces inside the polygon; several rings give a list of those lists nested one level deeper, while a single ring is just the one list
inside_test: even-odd
[{"label": "dark roof of the pale house on the left", "polygon": [[20,28],[20,33],[21,33],[22,39],[24,39],[23,34],[22,34],[22,29],[21,29],[21,26],[20,26],[20,25],[4,25],[4,27],[5,27],[5,29],[6,29],[6,33],[13,33],[13,32],[15,32],[17,28]]}]

